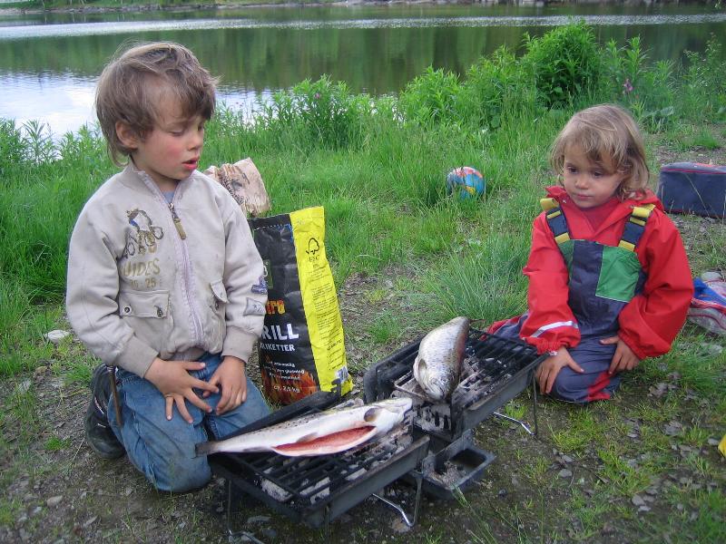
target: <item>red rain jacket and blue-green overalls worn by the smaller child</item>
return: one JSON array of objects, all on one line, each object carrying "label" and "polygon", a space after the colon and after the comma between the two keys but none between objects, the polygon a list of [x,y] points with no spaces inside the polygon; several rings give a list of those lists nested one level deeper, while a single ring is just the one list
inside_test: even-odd
[{"label": "red rain jacket and blue-green overalls worn by the smaller child", "polygon": [[528,311],[496,322],[495,335],[521,338],[538,353],[567,347],[584,369],[565,366],[554,396],[574,403],[609,399],[620,376],[608,374],[619,335],[639,359],[667,353],[693,295],[678,229],[652,192],[626,199],[593,228],[562,187],[547,189],[535,219]]}]

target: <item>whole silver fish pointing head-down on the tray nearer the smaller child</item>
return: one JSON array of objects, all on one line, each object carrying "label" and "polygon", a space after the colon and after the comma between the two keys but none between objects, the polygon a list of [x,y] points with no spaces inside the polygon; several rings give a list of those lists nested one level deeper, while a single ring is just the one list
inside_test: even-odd
[{"label": "whole silver fish pointing head-down on the tray nearer the smaller child", "polygon": [[446,400],[456,389],[464,359],[469,319],[455,317],[429,332],[418,345],[413,371],[429,400]]}]

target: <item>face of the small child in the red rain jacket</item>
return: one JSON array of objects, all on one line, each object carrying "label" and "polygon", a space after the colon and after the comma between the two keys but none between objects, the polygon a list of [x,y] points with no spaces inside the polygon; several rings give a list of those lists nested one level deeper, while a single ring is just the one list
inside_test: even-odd
[{"label": "face of the small child in the red rain jacket", "polygon": [[623,172],[606,170],[587,158],[579,146],[564,151],[564,190],[578,208],[594,208],[611,199],[625,180]]}]

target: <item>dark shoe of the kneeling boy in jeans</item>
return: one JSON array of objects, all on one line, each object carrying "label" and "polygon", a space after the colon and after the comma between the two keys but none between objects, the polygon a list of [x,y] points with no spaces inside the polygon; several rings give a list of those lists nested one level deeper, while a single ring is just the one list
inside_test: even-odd
[{"label": "dark shoe of the kneeling boy in jeans", "polygon": [[108,367],[102,363],[96,366],[91,378],[91,403],[88,404],[83,420],[85,440],[93,452],[98,453],[103,459],[118,459],[126,450],[108,423],[110,396]]}]

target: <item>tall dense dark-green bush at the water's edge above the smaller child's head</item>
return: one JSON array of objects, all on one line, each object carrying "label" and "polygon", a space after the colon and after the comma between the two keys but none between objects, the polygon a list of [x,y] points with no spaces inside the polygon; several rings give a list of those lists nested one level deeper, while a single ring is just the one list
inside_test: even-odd
[{"label": "tall dense dark-green bush at the water's edge above the smaller child's head", "polygon": [[603,68],[593,29],[581,21],[538,38],[525,34],[524,62],[535,78],[539,101],[547,107],[571,105],[594,92]]}]

